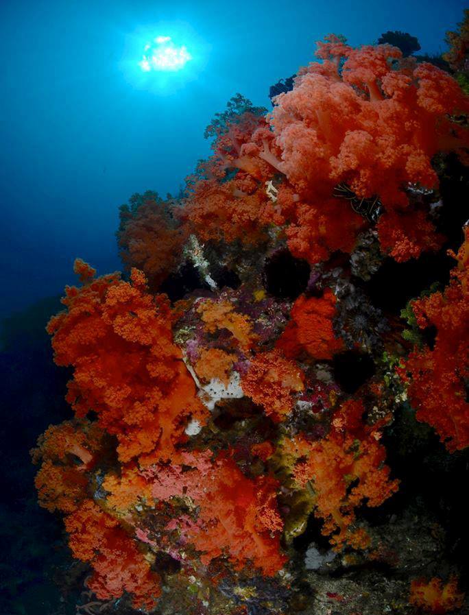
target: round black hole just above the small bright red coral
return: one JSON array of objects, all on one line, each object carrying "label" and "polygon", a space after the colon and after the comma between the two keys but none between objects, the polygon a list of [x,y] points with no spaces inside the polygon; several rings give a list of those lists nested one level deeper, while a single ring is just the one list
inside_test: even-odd
[{"label": "round black hole just above the small bright red coral", "polygon": [[278,250],[265,259],[263,285],[278,299],[296,299],[306,290],[310,274],[306,261],[294,258],[288,250]]}]

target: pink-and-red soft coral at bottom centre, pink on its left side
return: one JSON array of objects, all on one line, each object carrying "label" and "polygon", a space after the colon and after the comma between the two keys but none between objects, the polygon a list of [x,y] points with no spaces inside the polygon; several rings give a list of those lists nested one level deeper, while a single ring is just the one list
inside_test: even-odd
[{"label": "pink-and-red soft coral at bottom centre, pink on its left side", "polygon": [[228,555],[235,568],[252,562],[264,575],[274,575],[285,562],[280,553],[283,523],[276,504],[277,483],[268,477],[250,480],[230,457],[214,462],[204,454],[185,455],[184,465],[150,468],[155,497],[189,497],[199,508],[197,523],[185,535],[205,564]]}]

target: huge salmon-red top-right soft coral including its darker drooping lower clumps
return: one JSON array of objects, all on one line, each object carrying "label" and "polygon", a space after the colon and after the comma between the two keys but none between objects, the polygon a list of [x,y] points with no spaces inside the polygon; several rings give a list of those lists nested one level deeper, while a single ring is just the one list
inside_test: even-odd
[{"label": "huge salmon-red top-right soft coral including its darker drooping lower clumps", "polygon": [[[435,249],[439,238],[424,215],[413,215],[405,189],[409,183],[437,186],[434,154],[468,145],[468,131],[450,121],[468,110],[468,99],[433,64],[393,66],[401,53],[389,45],[352,49],[330,38],[319,55],[325,64],[300,71],[293,90],[275,99],[269,121],[280,154],[273,155],[273,146],[258,154],[285,173],[300,196],[302,205],[290,208],[287,219],[290,249],[310,262],[352,250],[363,220],[350,210],[346,215],[346,203],[341,213],[336,204],[334,213],[330,197],[337,184],[350,186],[359,199],[379,198],[384,228],[393,226],[386,218],[396,221],[396,208],[402,217],[406,210],[396,234],[381,231],[386,252],[405,260]],[[267,211],[274,220],[274,208]],[[407,237],[413,226],[419,233]]]}]

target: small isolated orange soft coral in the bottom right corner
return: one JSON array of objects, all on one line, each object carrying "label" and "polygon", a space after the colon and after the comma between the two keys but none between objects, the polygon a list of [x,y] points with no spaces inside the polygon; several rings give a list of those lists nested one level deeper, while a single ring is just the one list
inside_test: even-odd
[{"label": "small isolated orange soft coral in the bottom right corner", "polygon": [[416,579],[411,583],[409,602],[432,615],[444,615],[450,611],[460,609],[464,601],[464,592],[457,589],[457,577],[450,577],[443,584],[442,579],[433,577]]}]

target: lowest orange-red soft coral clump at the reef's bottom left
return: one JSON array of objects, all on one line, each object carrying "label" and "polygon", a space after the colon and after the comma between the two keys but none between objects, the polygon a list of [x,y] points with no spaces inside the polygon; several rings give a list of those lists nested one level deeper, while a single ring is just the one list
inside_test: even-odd
[{"label": "lowest orange-red soft coral clump at the reef's bottom left", "polygon": [[73,556],[93,567],[88,587],[98,599],[129,592],[135,608],[154,607],[161,593],[159,577],[117,520],[88,500],[66,518],[65,527]]}]

